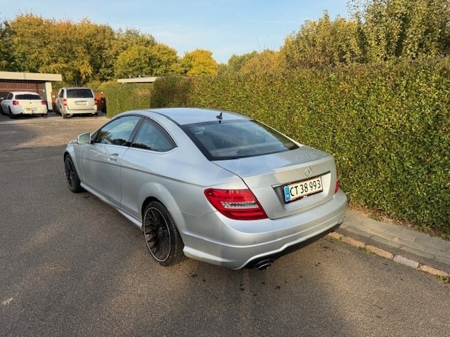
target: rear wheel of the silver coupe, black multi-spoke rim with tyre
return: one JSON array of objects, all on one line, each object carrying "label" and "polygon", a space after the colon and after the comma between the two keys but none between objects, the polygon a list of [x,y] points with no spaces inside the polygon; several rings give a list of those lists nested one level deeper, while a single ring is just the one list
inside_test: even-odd
[{"label": "rear wheel of the silver coupe, black multi-spoke rim with tyre", "polygon": [[159,201],[146,206],[142,228],[148,251],[160,265],[176,265],[184,259],[184,244],[174,219]]}]

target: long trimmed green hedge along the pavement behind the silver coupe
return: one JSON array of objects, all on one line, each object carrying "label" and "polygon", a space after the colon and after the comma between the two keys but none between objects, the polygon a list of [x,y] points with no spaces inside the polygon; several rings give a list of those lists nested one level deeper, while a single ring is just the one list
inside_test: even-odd
[{"label": "long trimmed green hedge along the pavement behind the silver coupe", "polygon": [[450,60],[442,59],[166,78],[148,99],[152,107],[214,107],[264,121],[333,153],[354,204],[450,233],[449,91]]}]

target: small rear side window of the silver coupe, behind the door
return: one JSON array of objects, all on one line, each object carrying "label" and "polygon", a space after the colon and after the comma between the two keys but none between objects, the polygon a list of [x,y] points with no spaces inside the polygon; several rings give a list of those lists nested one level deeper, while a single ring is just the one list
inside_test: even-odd
[{"label": "small rear side window of the silver coupe, behind the door", "polygon": [[144,119],[133,144],[131,144],[131,147],[158,152],[167,152],[175,146],[174,140],[170,138],[167,132],[161,126],[148,119]]}]

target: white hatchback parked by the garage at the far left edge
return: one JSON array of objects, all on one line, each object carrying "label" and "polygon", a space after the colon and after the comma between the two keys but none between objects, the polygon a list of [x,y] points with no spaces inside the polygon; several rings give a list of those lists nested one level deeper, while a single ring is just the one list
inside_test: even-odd
[{"label": "white hatchback parked by the garage at the far left edge", "polygon": [[47,104],[39,93],[32,91],[13,91],[1,100],[1,113],[15,118],[23,114],[47,115]]}]

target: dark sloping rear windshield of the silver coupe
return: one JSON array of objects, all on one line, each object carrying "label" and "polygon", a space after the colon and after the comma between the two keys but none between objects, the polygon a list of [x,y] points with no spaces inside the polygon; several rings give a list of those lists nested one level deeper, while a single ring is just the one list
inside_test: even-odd
[{"label": "dark sloping rear windshield of the silver coupe", "polygon": [[298,148],[281,133],[252,120],[208,121],[181,128],[210,160],[255,157]]}]

